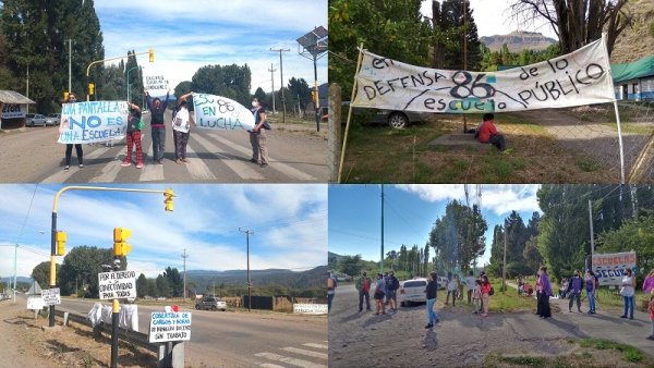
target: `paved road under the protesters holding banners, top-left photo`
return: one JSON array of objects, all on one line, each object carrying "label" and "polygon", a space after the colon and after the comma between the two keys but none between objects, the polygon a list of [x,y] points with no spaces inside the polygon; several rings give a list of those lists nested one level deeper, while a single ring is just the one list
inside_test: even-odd
[{"label": "paved road under the protesters holding banners, top-left photo", "polygon": [[[169,114],[167,118],[170,119]],[[250,162],[252,148],[244,132],[195,130],[187,146],[190,163],[174,163],[171,130],[167,130],[162,165],[152,161],[149,115],[144,116],[143,150],[146,167],[122,168],[125,140],[113,147],[84,146],[85,168],[76,167],[73,150],[71,170],[63,171],[64,146],[57,144],[57,127],[33,127],[0,134],[0,177],[4,183],[135,183],[220,182],[289,183],[327,182],[327,140],[315,127],[288,124],[268,135],[270,165]]]}]

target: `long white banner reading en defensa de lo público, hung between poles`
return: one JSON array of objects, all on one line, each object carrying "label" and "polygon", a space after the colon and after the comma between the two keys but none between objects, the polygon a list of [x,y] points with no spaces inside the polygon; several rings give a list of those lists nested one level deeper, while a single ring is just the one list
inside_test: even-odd
[{"label": "long white banner reading en defensa de lo p\u00fablico, hung between poles", "polygon": [[353,107],[435,113],[564,108],[615,100],[603,39],[499,72],[420,68],[364,51]]}]

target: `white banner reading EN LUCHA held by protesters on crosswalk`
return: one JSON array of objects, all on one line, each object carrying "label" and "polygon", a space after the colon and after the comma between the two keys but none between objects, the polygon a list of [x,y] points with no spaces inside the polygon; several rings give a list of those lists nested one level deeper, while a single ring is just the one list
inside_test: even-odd
[{"label": "white banner reading EN LUCHA held by protesters on crosswalk", "polygon": [[209,130],[249,131],[254,127],[250,109],[227,97],[193,94],[195,124]]}]

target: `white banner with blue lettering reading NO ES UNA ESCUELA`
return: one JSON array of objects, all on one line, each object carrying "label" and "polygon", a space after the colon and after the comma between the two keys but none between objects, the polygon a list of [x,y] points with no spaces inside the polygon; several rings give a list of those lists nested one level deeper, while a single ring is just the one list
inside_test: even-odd
[{"label": "white banner with blue lettering reading NO ES UNA ESCUELA", "polygon": [[87,144],[121,139],[128,128],[128,113],[125,101],[64,103],[57,142]]}]

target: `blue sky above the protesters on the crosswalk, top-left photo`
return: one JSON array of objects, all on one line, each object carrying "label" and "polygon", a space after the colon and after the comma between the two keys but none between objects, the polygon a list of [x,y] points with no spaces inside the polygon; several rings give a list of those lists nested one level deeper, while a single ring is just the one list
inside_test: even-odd
[{"label": "blue sky above the protesters on the crosswalk, top-left photo", "polygon": [[[96,13],[105,38],[107,58],[155,49],[138,63],[167,71],[172,88],[190,81],[198,68],[208,64],[247,63],[252,91],[270,91],[274,64],[275,88],[279,89],[279,52],[283,53],[284,83],[291,77],[314,81],[313,61],[299,54],[298,38],[316,26],[327,28],[327,0],[97,0]],[[327,57],[317,64],[318,84],[327,82]]]}]

